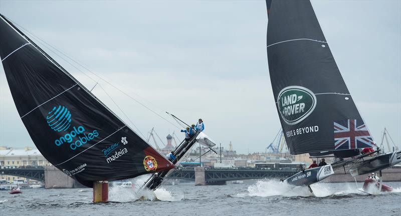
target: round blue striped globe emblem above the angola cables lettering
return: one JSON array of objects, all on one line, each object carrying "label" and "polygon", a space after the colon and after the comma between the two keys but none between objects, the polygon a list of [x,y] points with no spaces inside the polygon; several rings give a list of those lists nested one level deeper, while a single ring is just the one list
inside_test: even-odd
[{"label": "round blue striped globe emblem above the angola cables lettering", "polygon": [[55,106],[46,117],[47,123],[54,131],[67,130],[71,126],[71,113],[64,106]]}]

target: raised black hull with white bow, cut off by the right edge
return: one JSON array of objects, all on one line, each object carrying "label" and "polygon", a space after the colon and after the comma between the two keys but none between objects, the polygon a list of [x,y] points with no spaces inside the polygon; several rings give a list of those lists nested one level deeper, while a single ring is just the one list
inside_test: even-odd
[{"label": "raised black hull with white bow, cut off by the right edge", "polygon": [[362,158],[362,161],[357,163],[356,167],[349,169],[349,172],[352,176],[367,174],[391,167],[399,162],[401,162],[401,150]]}]

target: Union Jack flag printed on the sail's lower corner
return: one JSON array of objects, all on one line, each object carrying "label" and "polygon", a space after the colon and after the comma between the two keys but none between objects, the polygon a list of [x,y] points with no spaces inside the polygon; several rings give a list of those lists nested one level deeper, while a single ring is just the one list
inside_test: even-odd
[{"label": "Union Jack flag printed on the sail's lower corner", "polygon": [[373,138],[362,120],[334,121],[334,149],[375,147]]}]

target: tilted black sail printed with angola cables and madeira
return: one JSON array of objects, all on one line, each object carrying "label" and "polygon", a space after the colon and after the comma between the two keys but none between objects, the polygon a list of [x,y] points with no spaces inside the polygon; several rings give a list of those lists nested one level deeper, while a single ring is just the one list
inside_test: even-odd
[{"label": "tilted black sail printed with angola cables and madeira", "polygon": [[69,176],[92,186],[173,167],[3,15],[0,57],[32,140]]}]

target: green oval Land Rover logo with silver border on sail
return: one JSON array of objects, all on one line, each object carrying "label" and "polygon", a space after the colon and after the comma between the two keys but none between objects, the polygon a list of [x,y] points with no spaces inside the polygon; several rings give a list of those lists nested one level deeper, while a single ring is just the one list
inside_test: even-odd
[{"label": "green oval Land Rover logo with silver border on sail", "polygon": [[308,88],[291,85],[279,92],[277,105],[283,120],[294,125],[312,113],[316,106],[316,96]]}]

